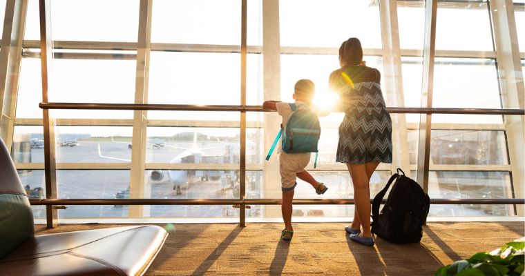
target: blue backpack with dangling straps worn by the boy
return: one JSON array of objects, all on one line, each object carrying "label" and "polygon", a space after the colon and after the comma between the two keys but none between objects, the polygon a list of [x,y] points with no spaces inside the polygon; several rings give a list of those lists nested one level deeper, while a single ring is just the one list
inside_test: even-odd
[{"label": "blue backpack with dangling straps worn by the boy", "polygon": [[317,144],[321,136],[321,125],[315,112],[310,110],[307,105],[302,109],[298,109],[295,103],[289,103],[292,108],[292,114],[286,121],[286,128],[283,130],[281,125],[280,131],[271,145],[271,148],[266,156],[266,160],[270,159],[271,152],[279,141],[281,135],[283,140],[281,146],[286,153],[300,153],[300,152],[316,152],[316,159],[314,161],[314,168],[317,166]]}]

